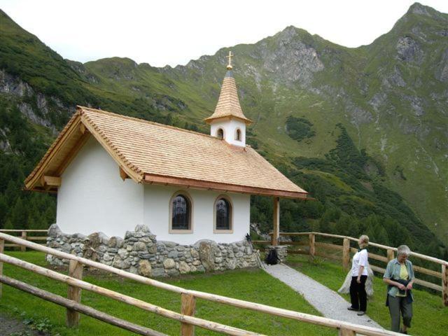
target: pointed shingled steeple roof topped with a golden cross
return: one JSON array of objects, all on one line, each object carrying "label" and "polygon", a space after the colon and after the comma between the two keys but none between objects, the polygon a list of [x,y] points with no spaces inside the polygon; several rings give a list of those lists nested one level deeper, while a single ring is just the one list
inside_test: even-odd
[{"label": "pointed shingled steeple roof topped with a golden cross", "polygon": [[233,78],[231,57],[232,54],[229,53],[228,71],[225,73],[218,104],[216,104],[215,112],[209,118],[205,119],[207,123],[211,123],[212,120],[221,118],[235,118],[246,124],[252,123],[252,120],[244,116],[241,106],[239,105],[237,83],[235,83],[235,78]]}]

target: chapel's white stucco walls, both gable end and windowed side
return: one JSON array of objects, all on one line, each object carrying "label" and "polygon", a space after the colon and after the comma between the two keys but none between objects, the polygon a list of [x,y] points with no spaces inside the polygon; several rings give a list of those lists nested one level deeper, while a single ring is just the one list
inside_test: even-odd
[{"label": "chapel's white stucco walls, both gable end and windowed side", "polygon": [[[250,195],[211,190],[186,190],[193,202],[193,232],[169,233],[170,200],[179,190],[185,189],[123,181],[116,162],[91,137],[62,174],[56,222],[67,234],[104,232],[124,237],[127,230],[146,224],[158,240],[179,244],[245,239],[250,230]],[[214,233],[214,204],[219,195],[227,195],[232,202],[232,233]]]}]

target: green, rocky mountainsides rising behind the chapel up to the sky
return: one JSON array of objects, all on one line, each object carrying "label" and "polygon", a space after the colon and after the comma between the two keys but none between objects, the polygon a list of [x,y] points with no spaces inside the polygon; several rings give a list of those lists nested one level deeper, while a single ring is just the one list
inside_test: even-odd
[{"label": "green, rocky mountainsides rising behind the chapel up to the sky", "polygon": [[[391,31],[370,45],[343,47],[293,26],[257,43],[235,45],[231,49],[237,55],[234,74],[241,105],[246,116],[254,120],[248,129],[249,144],[289,176],[301,179],[300,174],[307,172],[308,179],[320,179],[320,187],[325,181],[335,183],[332,187],[338,186],[339,191],[331,195],[325,209],[342,209],[342,217],[356,215],[355,208],[344,205],[347,202],[359,205],[369,200],[375,204],[383,202],[378,198],[379,186],[395,190],[447,244],[448,212],[444,208],[448,208],[448,189],[444,188],[448,188],[448,169],[444,153],[448,148],[448,32],[444,33],[446,26],[440,23],[447,18],[416,3]],[[214,111],[230,48],[174,68],[137,64],[126,57],[82,64],[57,57],[42,45],[32,50],[26,43],[31,34],[15,31],[11,35],[11,28],[5,26],[0,25],[0,102],[5,111],[14,109],[25,116],[24,123],[44,127],[34,134],[31,125],[30,137],[48,142],[73,113],[74,104],[208,132],[202,120]],[[20,62],[15,63],[12,55],[18,52],[18,43],[23,43],[25,52],[18,53]],[[42,73],[42,69],[48,71]],[[29,87],[21,94],[11,94],[13,86],[20,85],[5,85],[11,82],[4,79],[8,76]],[[6,139],[12,144],[12,135],[1,132],[0,141]],[[353,139],[355,148],[347,148],[363,162],[365,174],[344,166],[351,171],[348,176],[333,166],[346,165],[339,156],[330,155],[341,144],[341,137]],[[308,158],[307,165],[320,162],[321,170],[303,166],[300,159],[302,168],[297,171],[297,158]],[[310,163],[311,159],[324,162]],[[32,163],[28,159],[27,165]],[[415,186],[419,186],[418,192]],[[349,188],[358,190],[358,198],[342,195]],[[296,210],[290,211],[293,214]],[[401,214],[395,215],[408,216],[408,211]],[[316,219],[321,221],[322,216]],[[400,221],[405,225],[408,220]],[[310,223],[314,221],[307,225]]]}]

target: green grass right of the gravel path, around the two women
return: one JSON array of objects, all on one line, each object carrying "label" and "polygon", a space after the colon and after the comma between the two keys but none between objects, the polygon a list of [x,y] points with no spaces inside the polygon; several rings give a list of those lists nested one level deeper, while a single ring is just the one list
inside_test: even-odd
[{"label": "green grass right of the gravel path, around the two women", "polygon": [[[344,282],[346,272],[341,265],[335,262],[316,258],[314,262],[309,262],[307,256],[289,255],[288,265],[298,271],[307,274],[311,278],[323,283],[332,290],[338,290]],[[448,330],[448,307],[443,307],[440,295],[433,295],[426,290],[414,289],[414,317],[412,318],[412,328],[409,329],[412,335],[446,335]],[[347,301],[349,295],[343,295]],[[386,285],[382,279],[374,279],[374,295],[367,302],[367,314],[384,328],[391,328],[386,302]]]}]

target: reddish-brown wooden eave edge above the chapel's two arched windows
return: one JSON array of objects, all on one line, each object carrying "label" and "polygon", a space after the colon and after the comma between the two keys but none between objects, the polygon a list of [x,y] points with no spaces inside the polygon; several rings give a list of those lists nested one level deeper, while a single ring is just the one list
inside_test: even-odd
[{"label": "reddish-brown wooden eave edge above the chapel's two arched windows", "polygon": [[184,188],[216,190],[229,193],[242,193],[249,195],[274,196],[284,198],[294,198],[306,200],[308,193],[306,191],[276,190],[269,188],[258,188],[251,186],[240,186],[228,183],[218,183],[213,181],[203,181],[195,179],[185,179],[174,176],[162,176],[156,174],[144,174],[142,182],[146,184],[157,184],[162,186],[179,186]]}]

